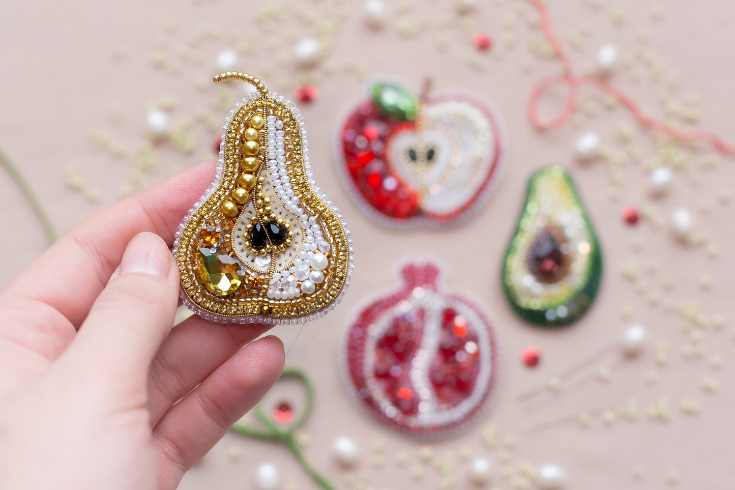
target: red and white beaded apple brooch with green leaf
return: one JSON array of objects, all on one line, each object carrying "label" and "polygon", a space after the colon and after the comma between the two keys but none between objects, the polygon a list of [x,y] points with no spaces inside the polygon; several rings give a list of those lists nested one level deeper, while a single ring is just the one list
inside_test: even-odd
[{"label": "red and white beaded apple brooch with green leaf", "polygon": [[464,94],[422,96],[375,83],[337,127],[335,160],[381,224],[450,224],[490,196],[505,154],[501,125]]}]

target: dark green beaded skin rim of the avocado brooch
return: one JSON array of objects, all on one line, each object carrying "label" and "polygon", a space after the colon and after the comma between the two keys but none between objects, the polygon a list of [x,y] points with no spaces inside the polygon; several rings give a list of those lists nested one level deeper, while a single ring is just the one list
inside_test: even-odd
[{"label": "dark green beaded skin rim of the avocado brooch", "polygon": [[[581,210],[581,216],[584,221],[584,228],[587,230],[590,246],[589,257],[587,258],[587,263],[584,267],[584,276],[582,277],[581,284],[578,285],[576,288],[573,288],[573,291],[570,291],[570,294],[567,294],[566,297],[563,297],[562,299],[556,300],[554,302],[548,302],[546,304],[541,301],[540,304],[537,305],[537,307],[529,308],[526,305],[522,305],[519,299],[519,295],[525,293],[517,291],[514,288],[512,281],[509,279],[509,276],[512,273],[509,264],[512,262],[512,255],[517,249],[518,244],[516,243],[516,241],[520,239],[518,235],[523,227],[524,219],[533,218],[533,216],[526,216],[529,213],[529,199],[532,199],[534,195],[534,189],[537,188],[539,181],[548,178],[550,174],[556,174],[557,177],[562,177],[562,182],[565,182],[564,191],[570,193],[570,196],[573,198],[576,206],[578,206],[578,208]],[[594,227],[592,227],[592,222],[587,216],[587,210],[582,204],[576,185],[574,184],[574,181],[572,180],[570,174],[568,174],[568,172],[562,166],[550,166],[534,172],[534,174],[532,174],[531,177],[528,179],[528,186],[526,187],[526,199],[524,200],[523,208],[520,212],[520,217],[517,221],[514,233],[509,243],[508,249],[506,250],[505,258],[503,260],[503,291],[505,291],[506,297],[510,302],[513,310],[515,310],[518,315],[522,316],[528,322],[536,324],[540,327],[562,327],[564,325],[576,322],[576,320],[580,319],[581,316],[584,315],[584,313],[587,313],[589,307],[592,306],[592,302],[595,301],[595,297],[598,294],[598,289],[600,288],[602,271],[603,259],[602,251],[600,249],[600,243],[598,241],[597,234],[595,233],[595,229]],[[550,319],[547,313],[548,310],[550,308],[556,310],[556,308],[559,308],[559,306],[567,308],[568,313],[562,317],[555,316]]]}]

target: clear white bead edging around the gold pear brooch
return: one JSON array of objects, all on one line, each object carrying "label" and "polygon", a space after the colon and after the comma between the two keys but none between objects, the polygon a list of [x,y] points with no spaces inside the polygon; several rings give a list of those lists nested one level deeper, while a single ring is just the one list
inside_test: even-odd
[{"label": "clear white bead edging around the gold pear brooch", "polygon": [[[227,128],[229,127],[230,121],[232,121],[232,118],[234,117],[235,113],[237,113],[238,110],[240,110],[243,105],[247,104],[251,101],[251,99],[255,99],[256,97],[261,96],[261,94],[257,91],[249,93],[247,96],[243,97],[243,99],[240,99],[239,102],[234,104],[234,107],[232,107],[232,110],[227,114],[227,117],[225,118],[224,124],[223,124],[223,132],[222,132],[222,142],[220,143],[220,157],[217,162],[217,171],[215,173],[215,178],[212,180],[212,183],[209,184],[209,187],[207,188],[207,191],[204,191],[204,194],[197,199],[197,201],[194,203],[194,205],[191,207],[188,213],[184,216],[184,219],[182,219],[181,224],[179,224],[179,228],[176,230],[175,240],[173,242],[173,249],[171,250],[173,252],[174,258],[177,258],[177,254],[179,251],[179,238],[181,238],[182,231],[184,230],[184,227],[186,227],[187,222],[193,216],[193,214],[198,210],[201,205],[204,204],[207,199],[209,199],[209,196],[214,193],[214,191],[218,188],[220,185],[220,182],[222,180],[223,171],[224,171],[224,141],[225,136],[227,132]],[[319,185],[317,184],[314,174],[312,173],[312,166],[311,162],[309,160],[309,142],[306,140],[306,123],[304,122],[304,116],[301,116],[301,112],[296,108],[296,104],[291,102],[289,99],[286,99],[284,96],[280,96],[279,94],[275,92],[271,92],[266,96],[266,99],[275,99],[277,102],[280,102],[284,104],[285,107],[287,107],[288,110],[291,111],[293,114],[295,120],[298,122],[298,128],[301,131],[301,146],[303,149],[304,154],[304,171],[306,172],[306,179],[309,182],[309,186],[312,188],[312,191],[324,202],[324,204],[329,207],[329,209],[334,213],[334,216],[337,216],[337,219],[340,221],[340,226],[342,226],[342,229],[345,231],[345,238],[347,238],[347,245],[348,245],[348,266],[347,266],[347,274],[345,274],[345,282],[342,285],[342,289],[340,290],[340,294],[337,295],[334,300],[329,303],[325,308],[315,311],[314,313],[309,313],[308,315],[304,316],[297,316],[295,318],[274,318],[273,316],[262,316],[262,315],[249,315],[249,316],[237,316],[237,317],[231,317],[231,316],[222,316],[218,315],[216,313],[209,312],[207,310],[203,310],[202,308],[199,308],[199,306],[193,302],[186,294],[186,291],[184,291],[184,288],[179,286],[179,297],[181,297],[182,302],[184,305],[187,306],[190,310],[193,311],[198,316],[201,316],[204,319],[211,320],[212,322],[219,322],[219,323],[240,323],[240,324],[251,324],[251,323],[262,323],[262,324],[269,324],[269,325],[279,325],[279,324],[302,324],[306,322],[310,322],[315,319],[322,318],[326,313],[329,313],[331,310],[334,310],[334,308],[337,307],[337,305],[342,302],[343,297],[345,296],[345,293],[347,292],[347,289],[350,285],[350,281],[352,279],[352,273],[354,271],[354,247],[352,246],[352,235],[350,233],[350,230],[347,227],[347,224],[345,223],[345,220],[343,219],[342,214],[340,213],[340,210],[337,208],[337,206],[334,205],[333,202],[331,202],[331,199],[329,199],[329,196],[324,193],[324,191],[321,190]]]}]

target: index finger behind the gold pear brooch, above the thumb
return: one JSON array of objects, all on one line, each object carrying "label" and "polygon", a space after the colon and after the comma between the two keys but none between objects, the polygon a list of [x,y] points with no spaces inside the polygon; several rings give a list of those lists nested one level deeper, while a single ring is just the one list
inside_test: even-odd
[{"label": "index finger behind the gold pear brooch, above the thumb", "polygon": [[79,327],[135,235],[154,232],[173,245],[184,215],[212,182],[215,166],[214,160],[201,163],[85,219],[21,272],[4,299],[46,303]]}]

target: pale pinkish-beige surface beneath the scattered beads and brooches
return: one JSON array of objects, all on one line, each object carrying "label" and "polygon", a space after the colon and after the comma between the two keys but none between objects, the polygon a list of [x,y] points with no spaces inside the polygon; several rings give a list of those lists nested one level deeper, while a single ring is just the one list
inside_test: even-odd
[{"label": "pale pinkish-beige surface beneath the scattered beads and brooches", "polygon": [[[528,124],[528,93],[534,82],[556,73],[559,65],[529,48],[539,31],[532,18],[528,21],[525,1],[478,0],[474,13],[464,18],[456,15],[451,1],[386,3],[393,18],[383,29],[373,30],[362,19],[361,1],[6,1],[0,15],[1,148],[21,166],[57,227],[68,230],[137,186],[212,157],[210,141],[217,130],[207,129],[201,121],[213,118],[219,127],[242,94],[239,85],[220,88],[207,82],[218,71],[216,54],[241,49],[238,69],[257,74],[271,90],[290,95],[294,81],[303,77],[293,63],[293,44],[322,29],[331,43],[324,62],[309,75],[320,96],[299,107],[306,118],[315,176],[353,232],[356,272],[343,304],[326,319],[303,330],[276,329],[289,348],[287,363],[306,369],[318,390],[314,412],[304,427],[309,461],[339,488],[348,488],[356,477],[373,489],[440,488],[437,465],[420,463],[418,450],[426,443],[394,436],[357,411],[337,372],[337,343],[355,305],[368,294],[390,288],[397,260],[432,255],[445,263],[448,287],[473,294],[490,310],[504,355],[501,390],[492,411],[464,436],[430,444],[437,461],[453,462],[453,488],[470,486],[467,452],[495,464],[492,486],[498,489],[518,483],[506,476],[515,475],[524,461],[563,466],[570,489],[664,489],[675,483],[684,489],[733,488],[735,391],[730,380],[735,343],[729,320],[735,317],[731,301],[735,203],[720,199],[720,193],[727,194],[723,188],[734,186],[730,159],[709,149],[686,151],[671,192],[663,199],[650,199],[644,167],[656,153],[654,138],[640,130],[625,110],[607,109],[600,93],[585,90],[582,115],[563,129],[539,134]],[[658,116],[666,114],[662,101],[689,101],[698,107],[701,127],[733,135],[731,2],[550,0],[548,4],[578,69],[594,62],[603,43],[615,43],[623,57],[612,77],[615,85]],[[273,21],[265,19],[269,12],[275,15]],[[321,16],[320,26],[309,20],[309,13]],[[335,19],[337,13],[344,14],[343,20]],[[416,35],[404,35],[412,29]],[[495,39],[491,54],[478,54],[471,46],[468,33],[475,30]],[[204,40],[196,42],[200,37]],[[581,47],[576,49],[575,43]],[[157,68],[154,58],[163,60],[164,66]],[[647,59],[660,60],[658,75],[647,68]],[[433,74],[437,90],[472,90],[501,114],[509,135],[505,175],[495,196],[462,227],[444,232],[381,229],[362,216],[338,182],[331,157],[333,124],[346,104],[364,95],[365,75],[374,74],[404,79],[413,88]],[[184,155],[170,143],[161,143],[154,149],[155,168],[140,171],[133,154],[135,146],[146,141],[146,107],[166,98],[176,105],[168,110],[171,123],[190,122],[196,149]],[[625,124],[632,129],[633,143],[621,140],[621,124],[623,133]],[[612,155],[621,155],[622,165],[574,161],[573,143],[589,130],[600,134]],[[95,149],[91,141],[100,138],[108,147],[115,141],[127,155],[115,157]],[[639,148],[639,157],[626,153],[631,144]],[[714,155],[717,163],[705,170],[708,155]],[[544,331],[514,316],[498,277],[526,177],[549,163],[563,163],[573,172],[600,235],[606,271],[598,301],[581,322],[566,330]],[[615,178],[620,185],[614,185]],[[68,183],[79,180],[84,182],[82,191],[74,191]],[[15,185],[2,172],[0,190],[4,237],[0,285],[6,285],[43,252],[46,243]],[[688,207],[705,244],[683,246],[665,226],[656,227],[647,219],[628,227],[620,219],[624,205],[651,207],[664,221],[674,207]],[[708,255],[708,246],[711,255],[719,247],[720,255]],[[621,273],[631,263],[637,280],[627,280]],[[713,279],[709,289],[700,286],[703,274]],[[673,286],[666,288],[669,277]],[[656,295],[659,301],[652,305]],[[688,358],[696,342],[690,341],[691,325],[674,311],[682,305],[690,309],[695,305],[704,315],[699,320],[704,324],[701,345],[706,350],[698,358]],[[718,329],[713,320],[720,314],[726,321]],[[558,400],[533,411],[515,400],[517,393],[554,369],[617,338],[631,322],[648,328],[650,349],[625,363],[615,364],[615,355],[600,359],[596,367],[614,365],[609,382],[602,383],[593,374],[589,383],[562,391]],[[542,349],[538,369],[528,370],[518,360],[528,344]],[[667,353],[667,362],[661,352]],[[712,367],[713,355],[724,360],[719,371]],[[647,383],[645,378],[653,379],[652,373],[656,380]],[[719,381],[720,390],[703,390],[706,377]],[[573,422],[582,411],[628,399],[637,400],[641,408],[637,422],[604,425],[593,416],[587,429]],[[698,402],[701,412],[683,413],[682,400]],[[670,422],[646,414],[662,401],[670,406]],[[566,416],[572,422],[539,433],[525,430]],[[508,436],[504,444],[483,443],[481,433],[490,424]],[[354,438],[362,451],[359,465],[346,478],[330,454],[332,441],[340,435]],[[242,450],[240,458],[230,457],[232,447]],[[406,466],[396,464],[401,452],[408,456]],[[316,488],[282,445],[233,434],[184,477],[181,488],[251,488],[254,470],[266,461],[278,466],[284,488]],[[423,468],[418,478],[411,475],[416,465]],[[643,477],[636,480],[638,465]]]}]

